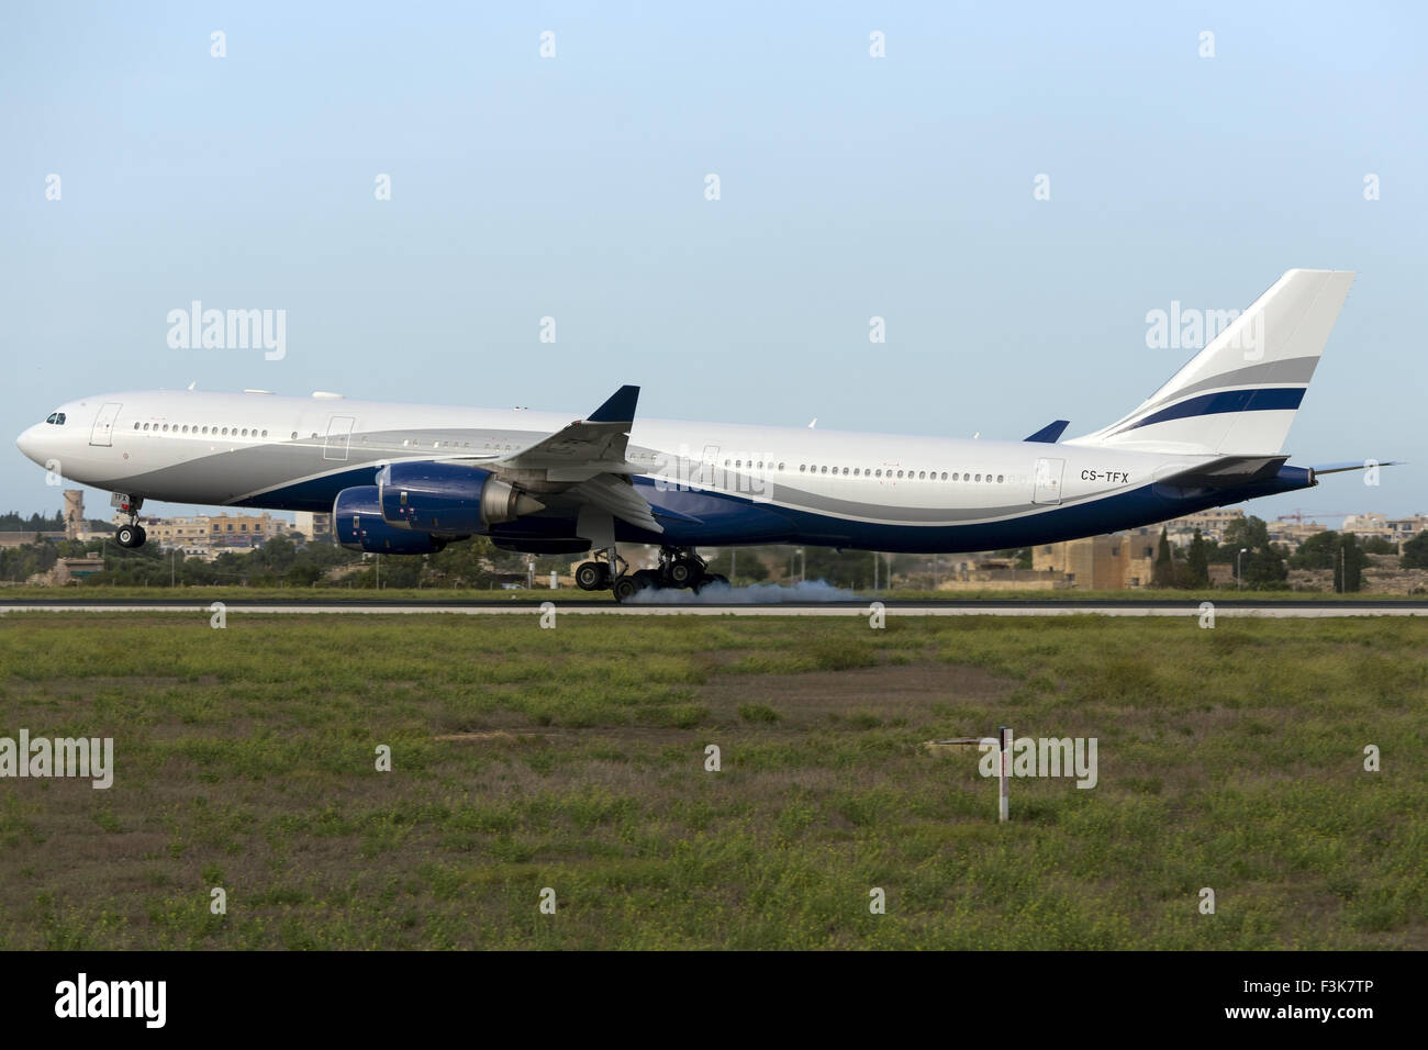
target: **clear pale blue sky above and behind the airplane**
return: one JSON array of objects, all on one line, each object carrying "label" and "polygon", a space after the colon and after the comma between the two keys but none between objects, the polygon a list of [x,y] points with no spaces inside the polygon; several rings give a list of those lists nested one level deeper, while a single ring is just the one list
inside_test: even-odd
[{"label": "clear pale blue sky above and behind the airplane", "polygon": [[[6,9],[10,437],[190,381],[1085,433],[1190,356],[1147,347],[1147,311],[1309,266],[1359,276],[1294,461],[1415,461],[1252,513],[1428,510],[1418,6],[294,7]],[[196,299],[286,310],[286,357],[170,349]],[[0,509],[57,510],[4,447]]]}]

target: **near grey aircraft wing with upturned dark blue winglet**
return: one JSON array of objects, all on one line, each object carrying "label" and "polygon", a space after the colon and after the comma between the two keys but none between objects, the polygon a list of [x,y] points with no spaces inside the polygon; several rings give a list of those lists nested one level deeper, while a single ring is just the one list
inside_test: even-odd
[{"label": "near grey aircraft wing with upturned dark blue winglet", "polygon": [[578,500],[633,526],[663,533],[650,501],[630,480],[630,429],[640,387],[623,386],[583,420],[496,461],[497,470],[520,479],[528,471],[545,481],[574,481],[561,496]]}]

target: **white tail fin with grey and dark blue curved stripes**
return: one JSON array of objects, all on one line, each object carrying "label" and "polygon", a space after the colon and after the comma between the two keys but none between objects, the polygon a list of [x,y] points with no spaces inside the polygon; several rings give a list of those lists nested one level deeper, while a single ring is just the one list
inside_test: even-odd
[{"label": "white tail fin with grey and dark blue curved stripes", "polygon": [[1277,453],[1338,319],[1349,270],[1289,270],[1135,411],[1067,444]]}]

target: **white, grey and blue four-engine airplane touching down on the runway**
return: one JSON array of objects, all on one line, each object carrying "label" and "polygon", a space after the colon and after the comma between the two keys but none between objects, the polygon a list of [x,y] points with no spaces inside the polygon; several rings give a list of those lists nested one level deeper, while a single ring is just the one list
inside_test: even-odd
[{"label": "white, grey and blue four-engine airplane touching down on the runway", "polygon": [[[1365,469],[1289,466],[1282,451],[1352,280],[1288,270],[1134,410],[1065,441],[1067,420],[1021,441],[637,420],[640,389],[623,386],[577,420],[327,391],[100,394],[17,444],[110,490],[129,516],[121,547],[144,543],[144,500],[318,511],[351,550],[427,554],[487,536],[504,550],[591,551],[575,583],[624,601],[721,581],[698,547],[1028,547]],[[630,571],[621,543],[658,546],[658,567]]]}]

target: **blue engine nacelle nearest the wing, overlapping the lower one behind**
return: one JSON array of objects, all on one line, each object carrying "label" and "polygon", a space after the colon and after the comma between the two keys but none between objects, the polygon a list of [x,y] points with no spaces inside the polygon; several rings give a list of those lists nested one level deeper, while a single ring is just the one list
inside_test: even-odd
[{"label": "blue engine nacelle nearest the wing, overlapping the lower one behind", "polygon": [[544,509],[490,470],[430,460],[383,467],[377,493],[388,526],[424,533],[470,536]]}]

